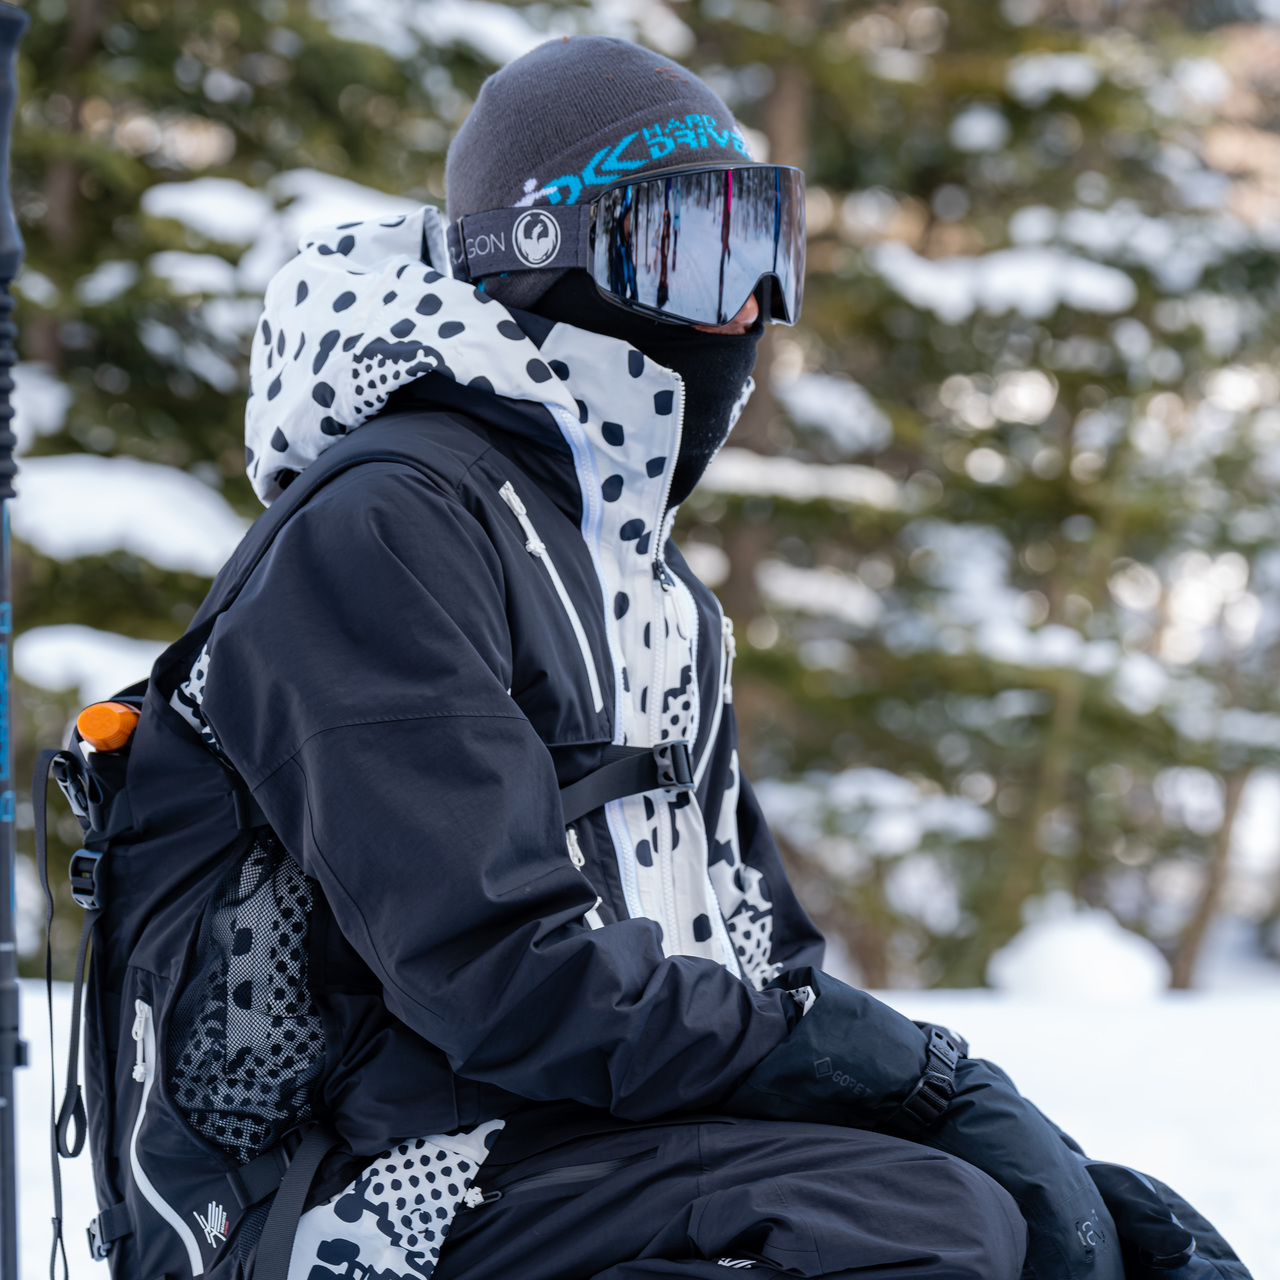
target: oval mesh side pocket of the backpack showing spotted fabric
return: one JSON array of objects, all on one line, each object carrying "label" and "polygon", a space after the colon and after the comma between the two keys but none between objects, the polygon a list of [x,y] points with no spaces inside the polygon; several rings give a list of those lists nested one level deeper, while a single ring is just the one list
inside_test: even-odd
[{"label": "oval mesh side pocket of the backpack showing spotted fabric", "polygon": [[246,1164],[311,1115],[324,1028],[307,986],[312,887],[270,831],[219,884],[169,1024],[187,1123]]}]

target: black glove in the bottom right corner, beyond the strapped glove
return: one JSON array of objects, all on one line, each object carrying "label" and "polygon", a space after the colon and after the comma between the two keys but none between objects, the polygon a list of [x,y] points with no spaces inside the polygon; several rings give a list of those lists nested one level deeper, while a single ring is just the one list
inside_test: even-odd
[{"label": "black glove in the bottom right corner, beyond the strapped glove", "polygon": [[1123,1165],[1085,1167],[1115,1220],[1126,1280],[1249,1280],[1213,1225],[1164,1183]]}]

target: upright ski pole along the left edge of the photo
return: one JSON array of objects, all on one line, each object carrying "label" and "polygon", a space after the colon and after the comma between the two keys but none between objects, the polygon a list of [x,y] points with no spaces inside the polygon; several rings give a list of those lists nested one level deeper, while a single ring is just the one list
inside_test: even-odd
[{"label": "upright ski pole along the left edge of the photo", "polygon": [[14,497],[13,378],[18,358],[9,285],[22,266],[22,234],[9,188],[9,134],[18,99],[18,42],[27,15],[0,3],[0,1280],[18,1280],[18,1152],[14,1068],[27,1065],[18,1037],[18,945],[14,888],[14,790],[10,698],[13,603],[9,576],[9,499]]}]

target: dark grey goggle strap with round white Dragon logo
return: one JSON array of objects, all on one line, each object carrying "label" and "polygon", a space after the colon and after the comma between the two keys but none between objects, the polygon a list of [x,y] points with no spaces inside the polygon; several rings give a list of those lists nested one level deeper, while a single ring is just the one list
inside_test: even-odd
[{"label": "dark grey goggle strap with round white Dragon logo", "polygon": [[453,275],[476,280],[504,271],[586,266],[591,205],[489,209],[449,224]]}]

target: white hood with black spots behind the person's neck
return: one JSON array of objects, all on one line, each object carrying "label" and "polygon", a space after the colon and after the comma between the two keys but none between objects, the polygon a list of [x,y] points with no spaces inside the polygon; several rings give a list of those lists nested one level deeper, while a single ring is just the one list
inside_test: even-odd
[{"label": "white hood with black spots behind the person's neck", "polygon": [[[246,468],[264,504],[392,392],[429,372],[586,421],[568,365],[539,352],[499,302],[428,265],[447,261],[443,219],[428,206],[312,232],[276,273],[253,339],[244,419]],[[655,402],[669,422],[680,379],[652,362],[645,375],[646,407]]]}]

